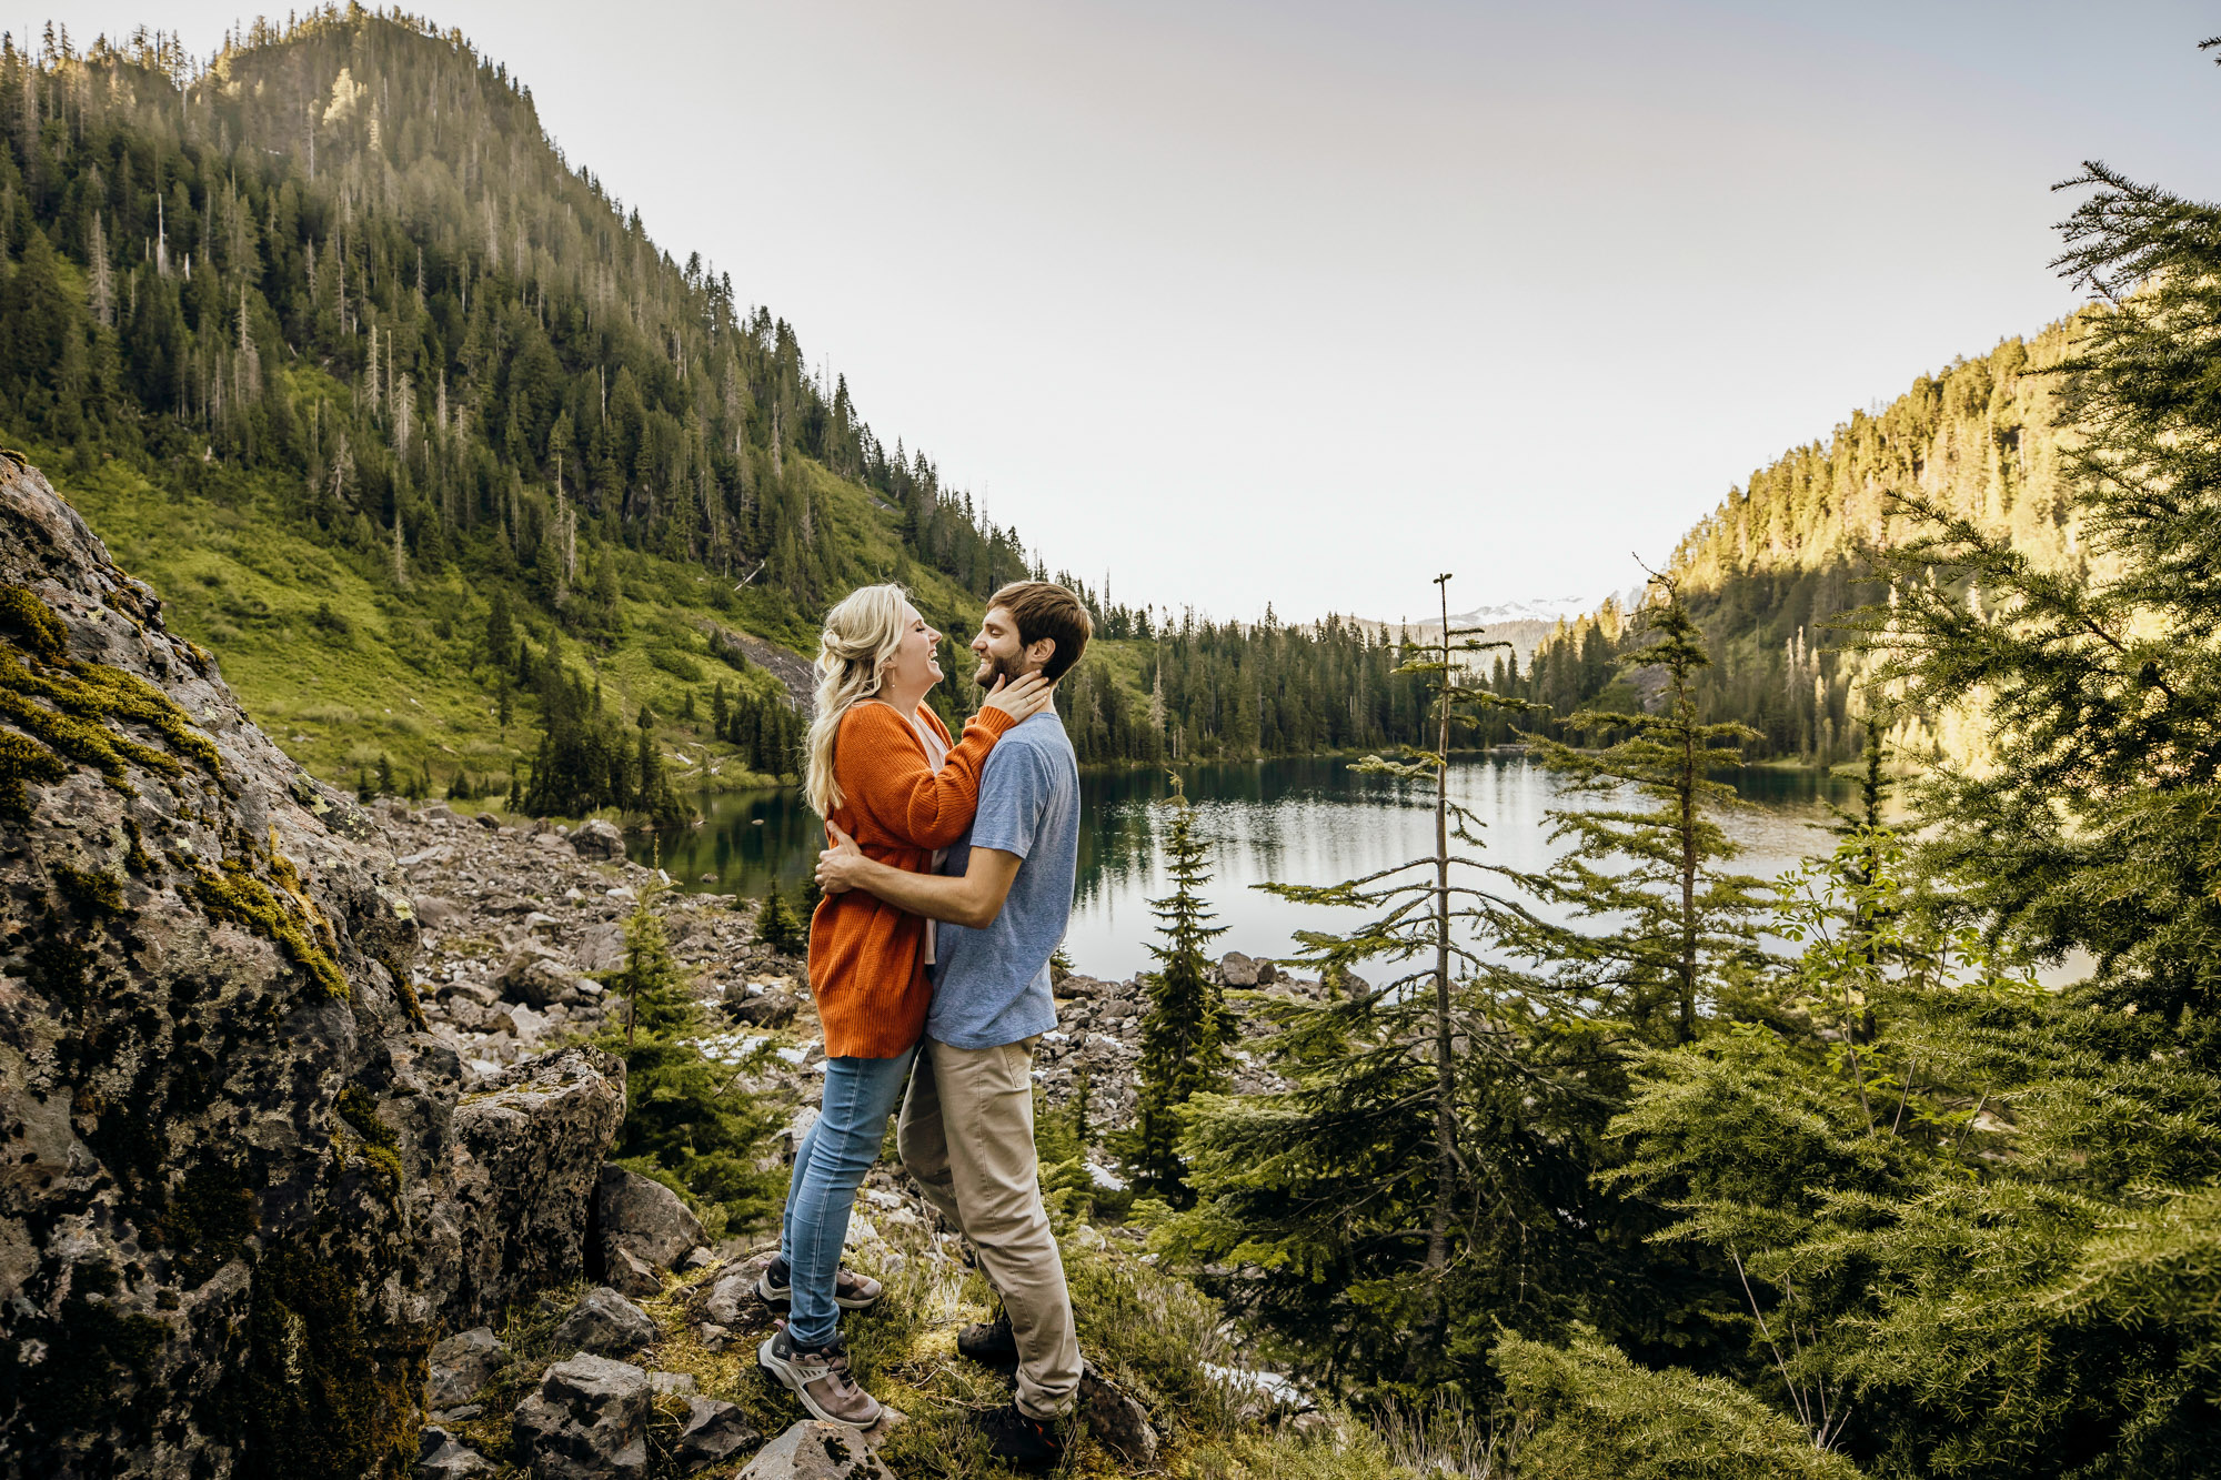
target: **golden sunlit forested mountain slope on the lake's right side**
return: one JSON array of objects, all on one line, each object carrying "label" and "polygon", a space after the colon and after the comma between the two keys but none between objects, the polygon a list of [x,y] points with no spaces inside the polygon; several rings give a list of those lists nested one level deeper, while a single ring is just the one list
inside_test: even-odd
[{"label": "golden sunlit forested mountain slope on the lake's right side", "polygon": [[[2046,569],[2079,571],[2086,551],[2068,507],[2061,382],[2046,373],[2077,320],[1921,376],[1879,413],[1857,411],[1826,442],[1786,451],[1690,529],[1666,571],[1701,622],[1715,667],[1704,702],[1761,731],[1752,758],[1839,762],[1861,747],[1861,660],[1835,651],[1846,611],[1879,600],[1868,551],[1910,529],[1892,493],[1912,493],[2010,538]],[[1559,713],[1615,682],[1617,611],[1566,624],[1517,687]],[[1626,693],[1632,698],[1632,691]],[[1966,753],[1954,716],[1903,718],[1917,753]]]}]

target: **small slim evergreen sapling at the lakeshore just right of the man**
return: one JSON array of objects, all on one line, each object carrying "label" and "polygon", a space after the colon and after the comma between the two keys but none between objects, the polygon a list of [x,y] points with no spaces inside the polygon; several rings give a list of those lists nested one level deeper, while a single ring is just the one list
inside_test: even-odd
[{"label": "small slim evergreen sapling at the lakeshore just right of the man", "polygon": [[1177,773],[1170,807],[1164,869],[1173,893],[1150,900],[1159,940],[1148,951],[1157,969],[1148,976],[1148,1013],[1142,1018],[1135,1118],[1115,1144],[1137,1193],[1188,1207],[1193,1198],[1177,1147],[1179,1109],[1197,1093],[1226,1089],[1233,1069],[1226,1044],[1235,1024],[1204,956],[1204,944],[1226,933],[1226,927],[1208,924],[1213,911],[1202,893],[1210,882],[1210,847],[1195,833],[1195,809]]}]

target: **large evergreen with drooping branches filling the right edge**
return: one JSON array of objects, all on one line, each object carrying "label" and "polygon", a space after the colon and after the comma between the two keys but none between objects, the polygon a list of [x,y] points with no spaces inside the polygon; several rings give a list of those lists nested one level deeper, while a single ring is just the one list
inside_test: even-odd
[{"label": "large evergreen with drooping branches filling the right edge", "polygon": [[[1615,1127],[1666,1236],[1763,1291],[1752,1364],[1786,1407],[1855,1393],[1843,1442],[1895,1473],[2205,1476],[2221,1422],[2221,411],[2192,391],[2221,367],[2221,209],[2083,184],[2088,562],[1906,493],[1917,536],[1861,616],[1901,702],[1979,698],[1983,744],[1912,789],[1915,844],[1839,849],[1855,944],[1808,933],[1792,989],[1859,984],[1859,1062],[1826,1013],[1781,1016],[1657,1058]],[[2088,980],[2019,969],[2066,951]]]}]

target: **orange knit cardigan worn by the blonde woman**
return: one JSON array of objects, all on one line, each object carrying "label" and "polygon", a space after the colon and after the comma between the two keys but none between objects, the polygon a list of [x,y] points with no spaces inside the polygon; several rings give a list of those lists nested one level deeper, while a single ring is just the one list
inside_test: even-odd
[{"label": "orange knit cardigan worn by the blonde woman", "polygon": [[[919,718],[948,740],[924,704]],[[979,811],[979,769],[1011,729],[1011,716],[984,709],[964,727],[935,771],[926,747],[893,704],[848,709],[833,738],[833,780],[842,804],[833,822],[866,858],[911,873],[933,867],[933,849],[964,836]],[[828,1058],[895,1058],[926,1031],[926,922],[862,889],[828,893],[811,916],[811,991],[826,1029]]]}]

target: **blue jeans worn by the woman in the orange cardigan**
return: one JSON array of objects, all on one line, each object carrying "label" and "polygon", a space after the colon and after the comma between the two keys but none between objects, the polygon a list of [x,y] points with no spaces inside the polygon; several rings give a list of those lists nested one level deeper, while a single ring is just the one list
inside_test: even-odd
[{"label": "blue jeans worn by the woman in the orange cardigan", "polygon": [[786,1222],[780,1229],[780,1258],[786,1260],[795,1291],[786,1331],[800,1347],[822,1347],[840,1331],[833,1278],[848,1238],[848,1211],[864,1173],[880,1160],[886,1118],[895,1113],[913,1056],[915,1049],[895,1058],[826,1060],[824,1104],[795,1151]]}]

